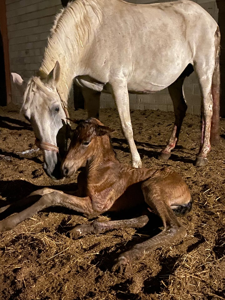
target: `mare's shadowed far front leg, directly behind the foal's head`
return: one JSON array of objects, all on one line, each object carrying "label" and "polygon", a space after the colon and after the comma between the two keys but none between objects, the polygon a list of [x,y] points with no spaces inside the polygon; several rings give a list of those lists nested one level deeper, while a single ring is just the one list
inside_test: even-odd
[{"label": "mare's shadowed far front leg, directly behind the foal's head", "polygon": [[93,91],[90,88],[82,88],[82,94],[85,101],[85,108],[88,111],[88,118],[99,119],[101,92]]}]

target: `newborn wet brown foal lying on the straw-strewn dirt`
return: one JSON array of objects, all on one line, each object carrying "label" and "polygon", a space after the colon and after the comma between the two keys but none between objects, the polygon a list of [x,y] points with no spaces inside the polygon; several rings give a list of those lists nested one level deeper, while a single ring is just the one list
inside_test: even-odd
[{"label": "newborn wet brown foal lying on the straw-strewn dirt", "polygon": [[[148,208],[153,210],[163,221],[163,231],[121,254],[115,267],[127,266],[153,249],[185,237],[186,229],[175,216],[175,213],[183,214],[192,207],[184,180],[168,168],[133,168],[120,163],[110,142],[111,132],[112,129],[95,118],[79,123],[61,166],[63,175],[70,177],[86,162],[85,171],[78,176],[78,191],[70,195],[46,187],[33,192],[28,198],[40,195],[39,200],[2,220],[0,231],[10,230],[50,206],[68,207],[89,219],[106,211],[121,212],[142,206],[147,208],[146,211]],[[78,238],[113,228],[143,227],[148,220],[147,213],[129,220],[89,222],[77,225],[70,231],[70,236]]]}]

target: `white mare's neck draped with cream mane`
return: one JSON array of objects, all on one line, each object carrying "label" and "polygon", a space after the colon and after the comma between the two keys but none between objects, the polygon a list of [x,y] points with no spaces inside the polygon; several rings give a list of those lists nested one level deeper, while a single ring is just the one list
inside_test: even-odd
[{"label": "white mare's neck draped with cream mane", "polygon": [[57,89],[66,104],[73,78],[83,75],[88,49],[86,45],[91,42],[100,24],[95,1],[90,2],[91,5],[85,1],[72,2],[56,17],[39,69],[40,73],[47,75],[58,60],[61,72]]}]

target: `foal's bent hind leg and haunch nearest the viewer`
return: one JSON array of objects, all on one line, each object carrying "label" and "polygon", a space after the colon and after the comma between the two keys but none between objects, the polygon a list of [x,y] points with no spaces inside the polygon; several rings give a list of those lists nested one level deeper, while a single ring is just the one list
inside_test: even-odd
[{"label": "foal's bent hind leg and haunch nearest the viewer", "polygon": [[152,250],[186,235],[185,227],[178,221],[170,207],[172,204],[181,205],[190,201],[190,192],[183,179],[177,173],[165,169],[158,178],[146,180],[142,184],[142,191],[147,204],[161,217],[164,229],[156,236],[122,253],[114,269],[118,266],[127,266]]}]

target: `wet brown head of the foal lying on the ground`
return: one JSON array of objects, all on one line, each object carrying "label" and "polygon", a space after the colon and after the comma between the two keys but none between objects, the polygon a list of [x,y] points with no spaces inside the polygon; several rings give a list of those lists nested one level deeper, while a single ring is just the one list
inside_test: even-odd
[{"label": "wet brown head of the foal lying on the ground", "polygon": [[61,165],[63,176],[71,177],[88,159],[102,155],[103,149],[107,151],[112,132],[95,118],[79,123]]}]

